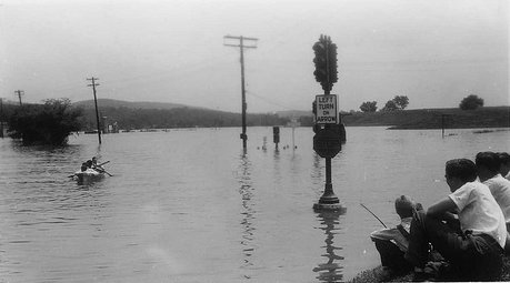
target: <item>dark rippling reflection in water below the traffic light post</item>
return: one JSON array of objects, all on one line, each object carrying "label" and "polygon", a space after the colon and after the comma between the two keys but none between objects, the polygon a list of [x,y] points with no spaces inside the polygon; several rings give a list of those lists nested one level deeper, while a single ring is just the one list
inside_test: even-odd
[{"label": "dark rippling reflection in water below the traffic light post", "polygon": [[321,226],[320,230],[324,231],[326,240],[324,247],[326,254],[322,254],[323,257],[328,260],[326,263],[320,263],[317,267],[313,269],[313,272],[317,272],[317,279],[320,282],[341,282],[343,279],[342,270],[343,266],[339,264],[338,261],[343,260],[343,256],[336,254],[337,251],[342,250],[334,245],[334,235],[338,234],[336,231],[340,230],[339,228],[339,216],[346,211],[324,211],[318,214],[317,218],[320,220]]}]

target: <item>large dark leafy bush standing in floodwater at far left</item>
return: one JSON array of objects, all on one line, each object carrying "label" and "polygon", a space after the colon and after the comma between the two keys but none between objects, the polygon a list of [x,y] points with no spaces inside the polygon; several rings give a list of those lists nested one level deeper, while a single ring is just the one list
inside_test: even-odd
[{"label": "large dark leafy bush standing in floodwater at far left", "polygon": [[71,108],[69,99],[50,99],[44,104],[26,104],[9,118],[9,135],[23,144],[67,144],[80,130],[81,109]]}]

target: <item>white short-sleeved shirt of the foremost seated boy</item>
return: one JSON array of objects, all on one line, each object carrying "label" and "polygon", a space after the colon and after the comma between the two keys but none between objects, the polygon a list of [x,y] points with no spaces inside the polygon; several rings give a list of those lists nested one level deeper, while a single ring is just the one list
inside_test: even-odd
[{"label": "white short-sleeved shirt of the foremost seated boy", "polygon": [[462,232],[471,230],[473,234],[491,235],[501,247],[504,247],[507,226],[503,212],[487,185],[480,182],[468,182],[449,198],[459,209]]}]

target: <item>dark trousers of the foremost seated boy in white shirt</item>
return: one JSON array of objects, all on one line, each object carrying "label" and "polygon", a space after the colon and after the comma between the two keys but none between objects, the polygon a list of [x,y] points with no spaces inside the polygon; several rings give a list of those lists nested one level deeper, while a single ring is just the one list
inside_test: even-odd
[{"label": "dark trousers of the foremost seated boy in white shirt", "polygon": [[429,243],[457,271],[460,280],[498,281],[502,269],[502,249],[487,234],[463,234],[442,221],[418,211],[411,222],[411,236],[406,259],[423,267]]}]

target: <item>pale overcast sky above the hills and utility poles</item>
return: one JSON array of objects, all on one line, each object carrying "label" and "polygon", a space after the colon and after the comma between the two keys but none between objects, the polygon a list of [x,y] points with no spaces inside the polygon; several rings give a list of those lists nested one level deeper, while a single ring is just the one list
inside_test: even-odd
[{"label": "pale overcast sky above the hills and utility poles", "polygon": [[[471,93],[509,105],[507,0],[0,0],[0,97],[98,97],[240,112],[310,110],[321,33],[338,46],[341,110],[407,95],[410,109]],[[251,42],[249,42],[251,43]]]}]

